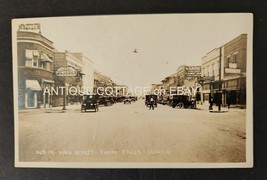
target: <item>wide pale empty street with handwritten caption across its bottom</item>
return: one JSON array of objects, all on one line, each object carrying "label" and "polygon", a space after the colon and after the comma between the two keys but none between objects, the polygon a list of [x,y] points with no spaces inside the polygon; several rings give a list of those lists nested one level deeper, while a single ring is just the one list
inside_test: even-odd
[{"label": "wide pale empty street with handwritten caption across its bottom", "polygon": [[[214,107],[217,109],[217,107]],[[53,162],[244,162],[245,110],[210,113],[144,100],[80,112],[19,113],[19,160]]]}]

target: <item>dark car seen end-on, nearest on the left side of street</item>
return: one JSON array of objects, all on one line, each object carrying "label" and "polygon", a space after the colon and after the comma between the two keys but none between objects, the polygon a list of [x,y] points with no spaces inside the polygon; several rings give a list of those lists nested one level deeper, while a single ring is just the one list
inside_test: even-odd
[{"label": "dark car seen end-on, nearest on the left side of street", "polygon": [[93,109],[95,112],[98,111],[98,95],[84,95],[83,103],[81,105],[81,112],[86,112],[86,110]]}]

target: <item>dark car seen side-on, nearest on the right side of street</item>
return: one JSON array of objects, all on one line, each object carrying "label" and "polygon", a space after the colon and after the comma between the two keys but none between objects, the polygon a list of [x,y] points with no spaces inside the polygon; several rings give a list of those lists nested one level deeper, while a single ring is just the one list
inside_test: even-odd
[{"label": "dark car seen side-on, nearest on the right side of street", "polygon": [[196,108],[196,101],[189,98],[187,95],[173,95],[171,106],[173,108]]}]

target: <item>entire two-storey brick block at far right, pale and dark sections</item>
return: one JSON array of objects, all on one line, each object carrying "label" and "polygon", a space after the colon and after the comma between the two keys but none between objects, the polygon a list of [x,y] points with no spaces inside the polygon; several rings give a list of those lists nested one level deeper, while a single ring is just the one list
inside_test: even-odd
[{"label": "entire two-storey brick block at far right, pale and dark sections", "polygon": [[247,35],[241,34],[202,58],[202,96],[205,104],[222,93],[222,105],[246,105]]}]

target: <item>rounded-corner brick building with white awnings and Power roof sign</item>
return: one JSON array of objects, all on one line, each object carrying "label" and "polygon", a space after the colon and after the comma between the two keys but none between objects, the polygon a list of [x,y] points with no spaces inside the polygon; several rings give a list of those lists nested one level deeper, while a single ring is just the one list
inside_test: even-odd
[{"label": "rounded-corner brick building with white awnings and Power roof sign", "polygon": [[44,37],[40,24],[21,24],[17,32],[19,109],[52,106],[44,87],[54,86],[53,42]]}]

